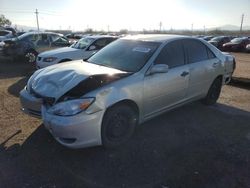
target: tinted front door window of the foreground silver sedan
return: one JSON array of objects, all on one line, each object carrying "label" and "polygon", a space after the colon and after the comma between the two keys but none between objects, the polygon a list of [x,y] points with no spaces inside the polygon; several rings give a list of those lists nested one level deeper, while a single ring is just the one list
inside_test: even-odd
[{"label": "tinted front door window of the foreground silver sedan", "polygon": [[156,58],[155,63],[167,64],[169,68],[184,65],[185,58],[181,40],[166,44]]}]

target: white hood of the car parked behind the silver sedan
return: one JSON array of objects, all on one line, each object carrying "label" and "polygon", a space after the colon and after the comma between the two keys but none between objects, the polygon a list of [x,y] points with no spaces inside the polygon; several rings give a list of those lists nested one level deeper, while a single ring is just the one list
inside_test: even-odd
[{"label": "white hood of the car parked behind the silver sedan", "polygon": [[76,48],[71,48],[71,47],[63,47],[63,48],[57,48],[55,50],[49,50],[49,51],[45,51],[39,54],[40,57],[56,57],[57,55],[60,54],[71,54],[71,53],[75,53],[75,52],[79,52],[81,51],[80,49],[76,49]]}]

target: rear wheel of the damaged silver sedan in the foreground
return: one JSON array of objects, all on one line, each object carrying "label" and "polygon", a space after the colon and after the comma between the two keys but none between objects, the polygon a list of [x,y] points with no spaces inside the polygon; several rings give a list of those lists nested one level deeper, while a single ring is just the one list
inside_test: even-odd
[{"label": "rear wheel of the damaged silver sedan in the foreground", "polygon": [[221,92],[221,87],[222,87],[222,80],[221,78],[216,78],[212,85],[210,86],[207,96],[203,99],[203,103],[206,105],[213,105],[216,103],[220,96]]}]

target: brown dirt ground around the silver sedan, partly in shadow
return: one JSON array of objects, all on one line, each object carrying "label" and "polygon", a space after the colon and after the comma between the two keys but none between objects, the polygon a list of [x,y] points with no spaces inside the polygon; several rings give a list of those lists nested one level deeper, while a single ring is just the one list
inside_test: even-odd
[{"label": "brown dirt ground around the silver sedan, partly in shadow", "polygon": [[[236,58],[249,62],[250,54]],[[119,149],[71,150],[20,111],[32,71],[0,60],[1,188],[250,187],[249,84],[224,86],[214,106],[195,102],[154,118]]]}]

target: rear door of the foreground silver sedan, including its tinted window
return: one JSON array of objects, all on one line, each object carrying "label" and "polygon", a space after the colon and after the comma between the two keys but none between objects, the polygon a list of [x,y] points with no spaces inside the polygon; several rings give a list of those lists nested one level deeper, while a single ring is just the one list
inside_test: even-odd
[{"label": "rear door of the foreground silver sedan, including its tinted window", "polygon": [[207,93],[213,80],[218,75],[220,60],[201,41],[195,39],[183,40],[189,65],[189,87],[187,99],[199,97]]}]

